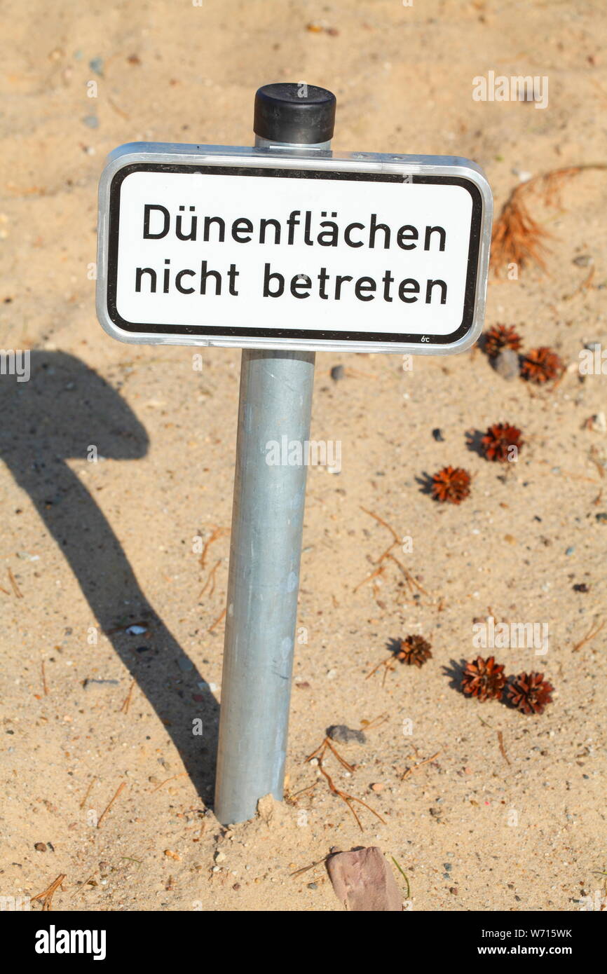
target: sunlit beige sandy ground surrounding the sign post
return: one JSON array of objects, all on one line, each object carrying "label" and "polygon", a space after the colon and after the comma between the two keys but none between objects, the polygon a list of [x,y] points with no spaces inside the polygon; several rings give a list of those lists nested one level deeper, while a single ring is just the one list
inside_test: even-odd
[{"label": "sunlit beige sandy ground surrounding the sign post", "polygon": [[[192,539],[230,524],[240,354],[204,351],[200,373],[187,348],[122,346],[97,324],[88,278],[105,154],[141,138],[249,144],[268,81],[335,92],[335,150],[474,159],[498,208],[521,172],[605,162],[601,8],[4,5],[0,344],[32,350],[32,378],[0,378],[0,893],[33,896],[64,874],[60,909],[337,911],[322,865],[289,874],[331,846],[377,844],[414,911],[570,911],[602,895],[607,628],[574,647],[607,615],[607,437],[585,428],[607,379],[576,369],[585,342],[607,348],[604,172],[534,205],[549,274],[489,286],[488,324],[572,364],[553,392],[506,382],[478,350],[418,357],[411,372],[400,356],[319,356],[313,433],[341,440],[343,459],[308,480],[289,795],[317,784],[229,830],[211,808],[229,539],[204,569]],[[547,75],[549,107],[475,102],[488,70]],[[506,471],[466,443],[504,419],[525,439]],[[445,464],[474,474],[462,506],[420,489]],[[412,539],[397,554],[427,595],[412,599],[394,562],[360,584],[393,540],[361,507]],[[549,624],[546,656],[501,653],[509,673],[546,672],[542,716],[458,691],[474,618],[490,614]],[[407,633],[433,658],[365,680]],[[380,715],[366,744],[341,749],[354,774],[326,764],[385,819],[360,807],[361,833],[303,762],[327,725]]]}]

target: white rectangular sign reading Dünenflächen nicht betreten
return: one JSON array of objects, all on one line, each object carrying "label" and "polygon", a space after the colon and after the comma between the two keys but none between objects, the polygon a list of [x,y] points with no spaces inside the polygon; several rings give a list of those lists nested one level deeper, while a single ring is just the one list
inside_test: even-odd
[{"label": "white rectangular sign reading D\u00fcnenfl\u00e4chen nicht betreten", "polygon": [[460,352],[491,216],[463,159],[133,143],[99,186],[97,315],[124,342]]}]

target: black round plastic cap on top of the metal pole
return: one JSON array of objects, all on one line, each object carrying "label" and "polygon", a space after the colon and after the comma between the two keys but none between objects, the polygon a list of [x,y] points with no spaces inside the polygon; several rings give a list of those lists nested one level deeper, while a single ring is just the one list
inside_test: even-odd
[{"label": "black round plastic cap on top of the metal pole", "polygon": [[272,142],[328,142],[335,127],[335,95],[303,82],[264,85],[255,94],[253,131]]}]

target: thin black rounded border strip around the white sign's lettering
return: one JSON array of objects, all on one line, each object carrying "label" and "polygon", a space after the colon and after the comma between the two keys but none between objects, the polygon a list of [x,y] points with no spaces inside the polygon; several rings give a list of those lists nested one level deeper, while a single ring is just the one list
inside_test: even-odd
[{"label": "thin black rounded border strip around the white sign's lettering", "polygon": [[[473,200],[472,226],[470,246],[468,250],[468,275],[464,295],[464,318],[456,331],[449,335],[431,335],[428,344],[452,345],[462,339],[474,325],[474,298],[476,292],[476,276],[478,269],[478,253],[480,248],[480,229],[482,225],[482,199],[478,187],[469,179],[461,176],[442,175],[413,175],[394,172],[338,172],[324,169],[280,169],[254,168],[248,166],[201,166],[196,163],[133,163],[119,169],[113,177],[109,190],[109,233],[108,233],[108,265],[107,265],[107,313],[109,318],[124,331],[132,334],[146,332],[158,335],[221,335],[248,338],[309,338],[316,341],[341,342],[394,342],[407,344],[421,344],[421,335],[403,333],[395,335],[392,332],[368,331],[316,331],[299,328],[237,328],[217,327],[215,325],[189,324],[143,324],[126,321],[118,314],[116,307],[116,289],[118,276],[118,239],[120,222],[120,190],[123,181],[132,172],[145,169],[147,172],[202,172],[209,175],[247,175],[247,176],[281,176],[285,179],[354,179],[362,182],[404,182],[405,179],[414,183],[436,183],[447,186],[462,186],[467,189]],[[424,336],[427,337],[427,336]],[[426,343],[424,343],[426,344]]]}]

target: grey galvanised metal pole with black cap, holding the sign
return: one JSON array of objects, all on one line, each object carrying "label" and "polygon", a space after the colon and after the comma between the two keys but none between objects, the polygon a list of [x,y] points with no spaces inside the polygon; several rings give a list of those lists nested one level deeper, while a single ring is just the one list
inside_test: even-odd
[{"label": "grey galvanised metal pole with black cap, holding the sign", "polygon": [[[266,85],[255,96],[255,145],[328,149],[334,113],[323,89]],[[283,799],[307,467],[269,465],[268,444],[309,439],[314,361],[314,352],[242,357],[214,808],[224,824],[252,818],[264,795]]]}]

